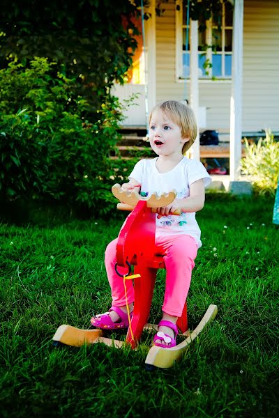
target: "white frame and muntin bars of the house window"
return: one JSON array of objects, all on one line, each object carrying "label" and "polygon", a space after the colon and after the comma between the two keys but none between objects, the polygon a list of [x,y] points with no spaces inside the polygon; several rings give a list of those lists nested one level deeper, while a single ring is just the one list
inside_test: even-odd
[{"label": "white frame and muntin bars of the house window", "polygon": [[[179,7],[176,7],[175,12],[175,22],[176,22],[176,82],[186,82],[190,79],[189,76],[183,76],[183,29],[186,28],[186,25],[183,25],[183,0],[176,0],[176,4]],[[232,22],[232,26],[225,26],[225,3],[223,3],[223,15],[222,15],[222,25],[221,25],[221,33],[222,33],[222,51],[218,52],[218,55],[221,56],[221,69],[222,75],[220,76],[212,76],[212,68],[207,68],[206,71],[209,73],[208,75],[199,76],[199,81],[202,82],[232,82],[232,74],[229,76],[224,75],[225,71],[225,56],[226,55],[233,55],[233,48],[232,52],[225,51],[225,31],[227,29],[234,30],[234,24]],[[190,22],[189,22],[190,23]],[[212,19],[206,21],[206,44],[212,45]],[[189,31],[189,42],[190,42],[190,31]],[[212,63],[212,56],[215,54],[211,48],[206,49],[206,52],[198,51],[198,54],[206,54],[206,59],[209,59]]]}]

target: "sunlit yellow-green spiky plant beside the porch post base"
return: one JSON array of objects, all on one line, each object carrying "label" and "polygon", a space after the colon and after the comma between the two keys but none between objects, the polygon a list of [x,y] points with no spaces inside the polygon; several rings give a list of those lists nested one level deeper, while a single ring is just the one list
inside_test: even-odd
[{"label": "sunlit yellow-green spiky plant beside the porch post base", "polygon": [[250,176],[255,191],[259,194],[275,195],[279,176],[279,142],[270,130],[257,144],[245,139],[246,157],[241,160],[242,173]]}]

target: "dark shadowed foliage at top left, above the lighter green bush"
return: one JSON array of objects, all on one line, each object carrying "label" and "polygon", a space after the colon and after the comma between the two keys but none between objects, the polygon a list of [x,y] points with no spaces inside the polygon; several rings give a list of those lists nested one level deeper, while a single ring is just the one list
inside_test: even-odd
[{"label": "dark shadowed foliage at top left, above the lighter green bush", "polygon": [[56,0],[1,1],[0,68],[15,57],[29,63],[33,56],[47,56],[75,78],[91,117],[100,109],[107,88],[115,80],[123,83],[132,64],[139,35],[133,22],[140,16],[140,3],[80,0],[66,6]]}]

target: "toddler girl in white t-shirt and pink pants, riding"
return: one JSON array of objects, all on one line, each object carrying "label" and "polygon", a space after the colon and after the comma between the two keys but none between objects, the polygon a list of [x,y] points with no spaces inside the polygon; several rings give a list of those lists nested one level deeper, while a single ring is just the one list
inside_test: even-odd
[{"label": "toddler girl in white t-shirt and pink pants, riding", "polygon": [[[153,342],[164,348],[176,345],[176,320],[181,316],[190,287],[197,249],[202,245],[195,212],[204,207],[204,187],[211,178],[201,162],[184,156],[197,137],[193,110],[169,100],[157,104],[149,117],[149,141],[158,157],[140,160],[121,188],[142,196],[176,190],[176,199],[158,208],[156,215],[156,254],[164,255],[166,268],[163,316]],[[176,209],[181,215],[172,215]],[[128,327],[128,311],[123,279],[115,270],[117,239],[105,251],[105,267],[112,288],[112,308],[91,318],[91,324],[111,330]],[[133,315],[133,284],[126,282],[130,315]]]}]

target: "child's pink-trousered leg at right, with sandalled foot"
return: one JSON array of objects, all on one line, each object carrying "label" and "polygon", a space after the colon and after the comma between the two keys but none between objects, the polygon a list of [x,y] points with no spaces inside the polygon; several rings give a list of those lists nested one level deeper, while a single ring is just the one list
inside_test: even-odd
[{"label": "child's pink-trousered leg at right, with sandalled foot", "polygon": [[[156,247],[165,255],[167,272],[162,320],[176,323],[177,318],[182,314],[188,295],[191,274],[195,266],[194,260],[197,256],[197,244],[190,235],[172,235],[157,238]],[[174,332],[169,327],[159,327],[158,331],[174,336]],[[156,342],[162,343],[162,341]]]}]

